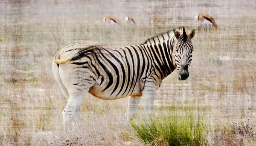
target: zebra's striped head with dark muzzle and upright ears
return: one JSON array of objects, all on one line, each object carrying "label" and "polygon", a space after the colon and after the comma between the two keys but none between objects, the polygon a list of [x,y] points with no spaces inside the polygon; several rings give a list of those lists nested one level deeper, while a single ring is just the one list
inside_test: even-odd
[{"label": "zebra's striped head with dark muzzle and upright ears", "polygon": [[193,44],[191,39],[195,36],[195,29],[186,34],[185,28],[175,31],[174,65],[177,66],[178,80],[186,80],[189,77],[189,65],[192,60]]}]

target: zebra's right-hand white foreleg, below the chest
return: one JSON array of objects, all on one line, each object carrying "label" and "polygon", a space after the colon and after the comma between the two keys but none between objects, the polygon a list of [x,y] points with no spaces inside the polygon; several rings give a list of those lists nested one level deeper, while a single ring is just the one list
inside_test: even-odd
[{"label": "zebra's right-hand white foreleg, below the chest", "polygon": [[154,98],[156,96],[156,86],[154,83],[145,83],[142,90],[143,108],[147,117],[153,114]]}]

